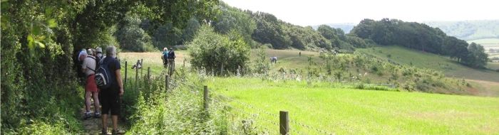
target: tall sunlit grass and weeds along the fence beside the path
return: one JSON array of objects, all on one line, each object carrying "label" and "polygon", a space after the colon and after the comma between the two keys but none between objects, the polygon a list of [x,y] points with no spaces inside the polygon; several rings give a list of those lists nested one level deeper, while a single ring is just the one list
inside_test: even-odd
[{"label": "tall sunlit grass and weeds along the fence beside the path", "polygon": [[[178,76],[182,74],[185,76]],[[227,134],[223,106],[210,104],[207,112],[203,108],[200,77],[194,73],[185,73],[183,69],[178,69],[175,75],[171,78],[168,91],[165,91],[164,74],[153,77],[147,85],[128,90],[129,94],[125,94],[124,98],[130,102],[126,105],[126,117],[130,124],[128,132]]]}]

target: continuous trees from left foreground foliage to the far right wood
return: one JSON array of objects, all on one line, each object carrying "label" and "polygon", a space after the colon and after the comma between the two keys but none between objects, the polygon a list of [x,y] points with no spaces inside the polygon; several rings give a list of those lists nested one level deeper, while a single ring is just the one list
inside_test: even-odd
[{"label": "continuous trees from left foreground foliage to the far right wood", "polygon": [[[83,101],[75,96],[83,92],[74,61],[78,50],[115,45],[121,51],[144,52],[175,45],[201,46],[196,43],[205,41],[193,41],[200,29],[217,32],[202,36],[215,37],[227,43],[227,48],[245,53],[234,54],[242,60],[235,60],[236,64],[249,59],[249,48],[260,46],[352,52],[376,44],[403,45],[478,68],[487,59],[481,45],[468,45],[424,24],[366,19],[345,34],[326,25],[317,30],[296,26],[270,13],[242,11],[216,0],[2,1],[1,11],[2,133],[37,130],[26,125],[56,125],[67,134],[81,131],[76,118],[80,108],[71,105]],[[217,53],[218,57],[227,54]]]}]

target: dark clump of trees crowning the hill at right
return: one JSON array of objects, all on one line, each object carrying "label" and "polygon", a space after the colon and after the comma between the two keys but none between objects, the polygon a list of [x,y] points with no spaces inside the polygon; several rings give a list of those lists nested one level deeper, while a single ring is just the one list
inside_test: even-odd
[{"label": "dark clump of trees crowning the hill at right", "polygon": [[379,45],[401,45],[423,52],[446,55],[470,67],[483,68],[488,55],[482,45],[466,43],[447,36],[439,28],[422,23],[384,18],[381,21],[364,19],[351,31],[359,38],[368,38]]}]

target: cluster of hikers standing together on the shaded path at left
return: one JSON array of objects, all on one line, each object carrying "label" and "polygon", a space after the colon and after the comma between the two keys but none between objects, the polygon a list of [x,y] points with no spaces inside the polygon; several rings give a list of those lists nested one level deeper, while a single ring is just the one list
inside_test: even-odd
[{"label": "cluster of hikers standing together on the shaded path at left", "polygon": [[[120,114],[120,96],[123,95],[123,82],[120,74],[120,62],[116,58],[116,48],[110,45],[103,55],[102,48],[86,48],[78,53],[79,68],[84,75],[85,109],[83,119],[101,118],[102,134],[108,133],[108,114],[113,121],[112,134],[118,131],[118,115]],[[94,112],[91,113],[91,98]],[[102,108],[101,108],[102,105]]]}]

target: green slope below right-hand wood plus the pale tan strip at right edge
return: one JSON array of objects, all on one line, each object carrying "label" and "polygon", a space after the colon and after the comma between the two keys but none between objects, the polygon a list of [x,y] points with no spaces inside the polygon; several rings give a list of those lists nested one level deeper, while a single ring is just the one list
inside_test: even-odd
[{"label": "green slope below right-hand wood plus the pale tan strip at right edge", "polygon": [[[376,58],[389,60],[391,63],[441,71],[447,77],[463,78],[471,82],[475,89],[478,90],[478,95],[499,96],[499,89],[497,88],[499,87],[499,72],[468,68],[441,55],[424,53],[396,45],[357,49],[357,51]],[[489,66],[492,69],[498,65],[492,64]]]}]

